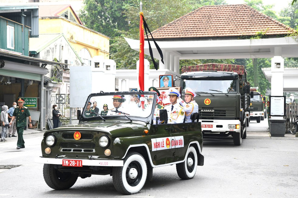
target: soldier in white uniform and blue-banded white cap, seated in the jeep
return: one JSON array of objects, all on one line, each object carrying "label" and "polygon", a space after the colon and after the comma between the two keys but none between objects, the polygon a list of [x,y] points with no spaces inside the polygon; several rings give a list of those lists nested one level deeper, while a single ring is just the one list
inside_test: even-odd
[{"label": "soldier in white uniform and blue-banded white cap, seated in the jeep", "polygon": [[168,123],[182,123],[184,121],[184,108],[179,104],[178,98],[181,94],[175,88],[169,89],[170,102],[165,109],[168,111]]}]

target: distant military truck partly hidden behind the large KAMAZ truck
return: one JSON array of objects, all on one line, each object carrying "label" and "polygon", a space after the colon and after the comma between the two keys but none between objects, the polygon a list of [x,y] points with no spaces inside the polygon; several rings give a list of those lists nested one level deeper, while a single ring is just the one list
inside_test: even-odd
[{"label": "distant military truck partly hidden behind the large KAMAZ truck", "polygon": [[[250,119],[256,119],[257,123],[264,120],[264,103],[260,92],[257,92],[257,88],[250,88],[251,99],[250,99]],[[265,100],[264,100],[265,101]]]}]

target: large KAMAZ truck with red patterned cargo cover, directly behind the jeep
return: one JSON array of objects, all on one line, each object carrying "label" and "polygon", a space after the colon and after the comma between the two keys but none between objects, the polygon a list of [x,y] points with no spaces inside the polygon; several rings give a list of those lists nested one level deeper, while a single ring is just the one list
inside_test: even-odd
[{"label": "large KAMAZ truck with red patterned cargo cover, directly behind the jeep", "polygon": [[203,64],[182,67],[182,96],[190,87],[196,92],[203,137],[233,136],[234,145],[246,138],[249,93],[243,65]]}]

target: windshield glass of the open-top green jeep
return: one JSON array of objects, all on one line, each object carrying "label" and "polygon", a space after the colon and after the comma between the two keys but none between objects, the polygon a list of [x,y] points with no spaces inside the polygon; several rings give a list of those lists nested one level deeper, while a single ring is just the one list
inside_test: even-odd
[{"label": "windshield glass of the open-top green jeep", "polygon": [[[154,94],[136,92],[113,93],[113,94],[91,94],[83,109],[84,118],[95,118],[100,116],[135,116],[147,118],[151,115]],[[142,104],[144,101],[144,104]]]}]

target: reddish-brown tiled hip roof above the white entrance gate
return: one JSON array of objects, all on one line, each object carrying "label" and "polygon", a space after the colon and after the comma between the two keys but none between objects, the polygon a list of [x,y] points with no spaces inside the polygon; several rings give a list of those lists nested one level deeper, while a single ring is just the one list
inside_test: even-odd
[{"label": "reddish-brown tiled hip roof above the white entrance gate", "polygon": [[288,35],[295,30],[248,5],[209,5],[162,26],[152,35],[159,41],[223,36],[235,39],[256,35],[256,32],[265,32],[268,38],[272,38],[273,35]]}]

